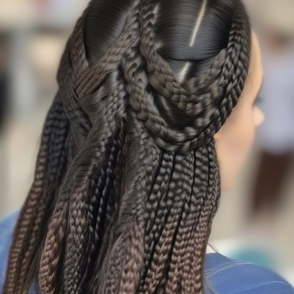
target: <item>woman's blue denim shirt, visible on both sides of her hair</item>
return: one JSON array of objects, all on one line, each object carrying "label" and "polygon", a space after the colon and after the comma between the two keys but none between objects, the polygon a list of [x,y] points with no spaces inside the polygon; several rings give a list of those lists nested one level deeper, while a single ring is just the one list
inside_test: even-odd
[{"label": "woman's blue denim shirt, visible on both sides of her hair", "polygon": [[[18,213],[0,222],[0,294]],[[272,270],[219,253],[206,254],[204,274],[205,294],[294,294],[294,288]],[[29,294],[36,294],[34,287]]]}]

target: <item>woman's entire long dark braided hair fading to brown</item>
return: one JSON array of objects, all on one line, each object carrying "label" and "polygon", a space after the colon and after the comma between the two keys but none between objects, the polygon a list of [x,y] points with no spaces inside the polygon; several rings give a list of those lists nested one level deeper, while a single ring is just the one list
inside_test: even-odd
[{"label": "woman's entire long dark braided hair fading to brown", "polygon": [[[196,21],[196,23],[195,23]],[[92,0],[61,58],[3,294],[204,293],[240,0]]]}]

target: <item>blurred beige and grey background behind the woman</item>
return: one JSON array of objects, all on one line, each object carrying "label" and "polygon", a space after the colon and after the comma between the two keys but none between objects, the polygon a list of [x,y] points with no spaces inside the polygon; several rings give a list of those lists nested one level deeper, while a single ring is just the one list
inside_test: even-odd
[{"label": "blurred beige and grey background behind the woman", "polygon": [[[209,243],[294,285],[294,1],[244,0],[263,54],[265,122]],[[0,1],[0,217],[29,191],[56,71],[88,0]]]}]

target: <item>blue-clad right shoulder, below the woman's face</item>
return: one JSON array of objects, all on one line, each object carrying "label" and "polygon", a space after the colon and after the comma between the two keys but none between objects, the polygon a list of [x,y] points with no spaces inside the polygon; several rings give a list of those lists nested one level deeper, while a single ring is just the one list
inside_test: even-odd
[{"label": "blue-clad right shoulder, below the woman's face", "polygon": [[274,271],[219,253],[206,254],[206,294],[294,294],[294,288]]}]

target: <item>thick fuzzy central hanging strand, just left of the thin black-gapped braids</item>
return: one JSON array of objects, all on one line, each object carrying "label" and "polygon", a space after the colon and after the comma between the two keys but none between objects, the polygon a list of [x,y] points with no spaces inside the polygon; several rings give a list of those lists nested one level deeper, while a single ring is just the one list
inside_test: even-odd
[{"label": "thick fuzzy central hanging strand, just left of the thin black-gapped braids", "polygon": [[[135,150],[130,148],[133,151],[126,157],[136,158],[137,164],[130,167],[126,175],[124,187],[126,193],[122,196],[115,229],[116,241],[112,248],[108,248],[109,252],[106,253],[104,265],[108,265],[108,267],[103,270],[104,267],[102,266],[103,275],[100,279],[103,285],[99,288],[99,293],[104,293],[104,291],[105,293],[114,293],[119,289],[124,292],[126,289],[121,288],[123,286],[128,287],[128,290],[131,291],[129,293],[134,292],[143,264],[144,232],[142,221],[144,206],[141,201],[150,189],[154,176],[153,171],[158,164],[159,153],[158,149],[152,146],[152,141],[146,136],[146,133],[135,132],[134,136],[130,134],[127,141],[128,144],[135,144],[137,147]],[[144,148],[145,146],[147,148]],[[146,166],[147,162],[151,162],[152,165]],[[142,236],[133,239],[138,234]],[[137,270],[133,273],[133,270],[128,270],[128,267],[137,267]],[[120,277],[126,282],[121,287]]]}]

